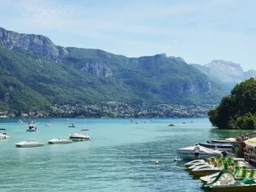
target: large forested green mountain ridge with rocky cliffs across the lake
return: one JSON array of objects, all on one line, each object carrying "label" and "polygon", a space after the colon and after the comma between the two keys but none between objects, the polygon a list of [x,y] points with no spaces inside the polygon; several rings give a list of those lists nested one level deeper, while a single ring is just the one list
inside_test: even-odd
[{"label": "large forested green mountain ridge with rocky cliffs across the lake", "polygon": [[224,96],[218,83],[180,57],[61,47],[42,35],[1,27],[0,67],[0,110],[110,101],[201,105]]}]

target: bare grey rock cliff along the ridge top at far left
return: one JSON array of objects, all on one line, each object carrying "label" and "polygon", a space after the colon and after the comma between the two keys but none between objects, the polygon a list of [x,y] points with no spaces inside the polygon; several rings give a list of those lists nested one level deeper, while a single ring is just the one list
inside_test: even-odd
[{"label": "bare grey rock cliff along the ridge top at far left", "polygon": [[48,60],[61,60],[68,54],[67,49],[55,46],[49,38],[42,35],[20,34],[2,27],[0,27],[0,44],[7,49],[25,50]]}]

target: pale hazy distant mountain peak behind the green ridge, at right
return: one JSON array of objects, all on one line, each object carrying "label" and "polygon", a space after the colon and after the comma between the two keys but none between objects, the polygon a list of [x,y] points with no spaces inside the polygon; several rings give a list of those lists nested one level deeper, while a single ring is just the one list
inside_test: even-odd
[{"label": "pale hazy distant mountain peak behind the green ridge, at right", "polygon": [[255,70],[244,72],[241,66],[232,61],[213,60],[207,65],[201,66],[191,64],[198,68],[202,73],[206,73],[211,79],[222,84],[226,91],[230,91],[235,84],[245,79],[256,77]]}]

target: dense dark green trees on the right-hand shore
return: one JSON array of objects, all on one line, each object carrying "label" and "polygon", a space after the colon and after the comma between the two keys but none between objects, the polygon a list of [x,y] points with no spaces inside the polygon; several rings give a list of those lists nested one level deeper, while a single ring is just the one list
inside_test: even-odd
[{"label": "dense dark green trees on the right-hand shore", "polygon": [[256,79],[247,79],[224,96],[220,104],[208,112],[212,125],[219,129],[256,128]]}]

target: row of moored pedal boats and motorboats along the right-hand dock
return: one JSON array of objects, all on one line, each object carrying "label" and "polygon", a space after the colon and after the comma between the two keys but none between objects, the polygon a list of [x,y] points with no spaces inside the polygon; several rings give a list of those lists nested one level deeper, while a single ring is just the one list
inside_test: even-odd
[{"label": "row of moored pedal boats and motorboats along the right-hand dock", "polygon": [[[235,139],[216,140],[211,144],[213,143],[215,145],[230,144],[231,146],[237,144]],[[177,154],[180,154],[183,159],[191,159],[194,157],[192,148],[179,148]],[[256,170],[250,168],[244,159],[234,158],[231,155],[225,156],[221,150],[203,146],[200,148],[201,160],[189,161],[184,166],[190,174],[201,179],[202,189],[223,192],[256,191]]]}]

